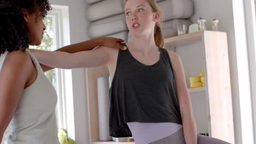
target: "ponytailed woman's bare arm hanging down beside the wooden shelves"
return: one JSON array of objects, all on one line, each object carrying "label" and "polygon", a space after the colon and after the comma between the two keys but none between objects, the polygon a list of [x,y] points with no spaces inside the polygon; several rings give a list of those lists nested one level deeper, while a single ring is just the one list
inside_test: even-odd
[{"label": "ponytailed woman's bare arm hanging down beside the wooden shelves", "polygon": [[177,53],[168,51],[171,57],[171,62],[174,69],[176,94],[181,110],[184,138],[187,144],[197,143],[196,123],[193,116],[192,104],[190,95],[185,80],[185,74],[181,58]]}]

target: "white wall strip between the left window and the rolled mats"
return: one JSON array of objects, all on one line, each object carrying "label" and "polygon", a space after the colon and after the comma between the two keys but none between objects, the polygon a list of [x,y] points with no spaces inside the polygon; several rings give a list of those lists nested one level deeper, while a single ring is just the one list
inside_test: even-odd
[{"label": "white wall strip between the left window and the rolled mats", "polygon": [[[87,35],[88,21],[85,16],[87,3],[85,0],[49,0],[51,4],[67,5],[69,7],[69,26],[71,44],[88,40]],[[74,127],[75,141],[80,143],[89,143],[88,115],[86,99],[85,70],[73,69],[73,101],[74,101]]]}]

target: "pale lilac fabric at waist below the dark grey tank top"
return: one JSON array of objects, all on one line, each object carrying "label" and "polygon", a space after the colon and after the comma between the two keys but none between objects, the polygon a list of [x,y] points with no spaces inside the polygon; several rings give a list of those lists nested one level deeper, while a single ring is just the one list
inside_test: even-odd
[{"label": "pale lilac fabric at waist below the dark grey tank top", "polygon": [[176,133],[182,128],[177,123],[127,123],[136,144],[147,144]]}]

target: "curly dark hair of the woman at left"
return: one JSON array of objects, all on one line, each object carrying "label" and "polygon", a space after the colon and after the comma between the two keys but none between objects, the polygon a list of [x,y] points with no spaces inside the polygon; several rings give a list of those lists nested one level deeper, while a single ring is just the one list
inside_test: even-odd
[{"label": "curly dark hair of the woman at left", "polygon": [[42,18],[52,9],[48,0],[0,0],[0,55],[6,50],[25,51],[30,43],[22,8],[28,13],[36,13],[35,22],[37,22],[38,9]]}]

